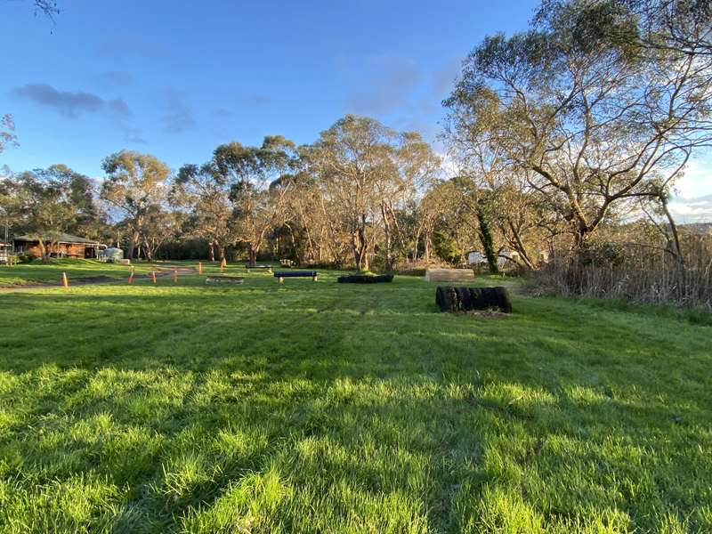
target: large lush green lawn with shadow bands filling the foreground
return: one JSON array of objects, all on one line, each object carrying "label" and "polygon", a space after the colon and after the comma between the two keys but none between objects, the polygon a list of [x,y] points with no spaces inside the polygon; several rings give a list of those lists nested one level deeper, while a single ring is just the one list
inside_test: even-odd
[{"label": "large lush green lawn with shadow bands filling the foreground", "polygon": [[712,531],[712,328],[335,278],[0,295],[0,531]]}]

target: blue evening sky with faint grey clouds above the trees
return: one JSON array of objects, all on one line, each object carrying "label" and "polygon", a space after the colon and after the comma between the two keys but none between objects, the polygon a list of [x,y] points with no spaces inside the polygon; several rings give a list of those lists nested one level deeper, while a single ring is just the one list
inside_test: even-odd
[{"label": "blue evening sky with faint grey clouds above the trees", "polygon": [[[346,113],[434,141],[465,54],[525,28],[537,4],[59,0],[53,24],[3,0],[0,114],[20,147],[0,165],[98,177],[101,158],[127,148],[177,168],[232,140],[312,142]],[[712,213],[708,161],[681,182],[687,218]]]}]

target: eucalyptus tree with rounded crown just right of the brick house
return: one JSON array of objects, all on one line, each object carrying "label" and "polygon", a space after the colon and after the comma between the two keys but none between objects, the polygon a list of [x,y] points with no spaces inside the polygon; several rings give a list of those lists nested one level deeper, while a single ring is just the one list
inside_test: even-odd
[{"label": "eucalyptus tree with rounded crown just right of the brick house", "polygon": [[119,211],[129,233],[126,255],[133,258],[147,215],[166,202],[171,171],[155,156],[131,150],[111,154],[101,165],[107,176],[100,196]]}]

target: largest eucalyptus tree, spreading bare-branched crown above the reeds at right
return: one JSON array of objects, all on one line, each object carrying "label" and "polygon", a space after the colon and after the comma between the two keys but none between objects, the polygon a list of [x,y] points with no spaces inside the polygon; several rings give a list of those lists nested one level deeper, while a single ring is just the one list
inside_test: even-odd
[{"label": "largest eucalyptus tree, spreading bare-branched crown above the reeds at right", "polygon": [[632,198],[674,183],[712,138],[709,59],[645,47],[619,0],[546,2],[536,25],[488,36],[449,107],[458,150],[486,146],[566,221],[574,247]]}]

